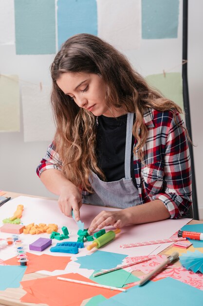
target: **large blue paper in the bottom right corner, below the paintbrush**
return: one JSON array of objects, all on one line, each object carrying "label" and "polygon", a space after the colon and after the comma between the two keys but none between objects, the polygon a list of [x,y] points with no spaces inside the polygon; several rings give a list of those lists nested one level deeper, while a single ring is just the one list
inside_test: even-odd
[{"label": "large blue paper in the bottom right corner, below the paintbrush", "polygon": [[148,281],[101,302],[98,306],[201,306],[203,291],[170,277]]}]

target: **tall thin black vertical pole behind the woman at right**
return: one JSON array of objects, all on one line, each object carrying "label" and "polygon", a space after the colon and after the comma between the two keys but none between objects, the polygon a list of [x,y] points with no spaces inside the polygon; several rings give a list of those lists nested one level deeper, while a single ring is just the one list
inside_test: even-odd
[{"label": "tall thin black vertical pole behind the woman at right", "polygon": [[[183,0],[183,63],[184,61],[187,61],[187,14],[188,14],[188,0]],[[183,99],[184,99],[184,109],[185,109],[185,124],[187,127],[188,134],[190,136],[190,139],[192,140],[189,93],[188,93],[188,84],[187,84],[187,63],[183,64],[182,77],[183,77]],[[190,152],[190,157],[191,157],[191,171],[192,171],[193,215],[194,215],[194,219],[199,220],[193,148],[190,143],[189,143],[189,152]]]}]

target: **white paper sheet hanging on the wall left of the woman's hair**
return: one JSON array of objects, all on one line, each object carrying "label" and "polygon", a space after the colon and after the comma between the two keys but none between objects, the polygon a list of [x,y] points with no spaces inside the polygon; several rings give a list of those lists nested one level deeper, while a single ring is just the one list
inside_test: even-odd
[{"label": "white paper sheet hanging on the wall left of the woman's hair", "polygon": [[23,86],[22,109],[24,141],[51,141],[55,125],[52,116],[48,86]]}]

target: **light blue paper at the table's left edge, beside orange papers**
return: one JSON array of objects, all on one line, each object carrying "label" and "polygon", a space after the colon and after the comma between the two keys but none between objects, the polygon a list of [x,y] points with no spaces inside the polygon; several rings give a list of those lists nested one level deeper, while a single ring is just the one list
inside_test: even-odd
[{"label": "light blue paper at the table's left edge, beside orange papers", "polygon": [[0,290],[18,288],[26,267],[20,265],[0,265]]}]

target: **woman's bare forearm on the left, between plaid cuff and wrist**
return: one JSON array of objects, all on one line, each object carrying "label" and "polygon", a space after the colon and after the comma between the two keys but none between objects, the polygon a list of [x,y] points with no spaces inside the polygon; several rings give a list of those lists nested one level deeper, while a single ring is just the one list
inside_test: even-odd
[{"label": "woman's bare forearm on the left, between plaid cuff and wrist", "polygon": [[74,186],[74,184],[57,169],[43,171],[40,175],[40,179],[45,187],[57,196],[61,194],[64,188],[70,189]]}]

